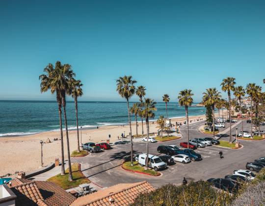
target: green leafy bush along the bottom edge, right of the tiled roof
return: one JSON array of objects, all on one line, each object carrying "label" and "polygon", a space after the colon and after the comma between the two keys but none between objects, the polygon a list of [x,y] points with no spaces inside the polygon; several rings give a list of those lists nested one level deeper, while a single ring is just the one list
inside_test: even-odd
[{"label": "green leafy bush along the bottom edge, right of the tiled roof", "polygon": [[205,181],[190,182],[176,186],[166,184],[150,193],[140,194],[133,206],[224,206],[233,196],[219,191]]}]

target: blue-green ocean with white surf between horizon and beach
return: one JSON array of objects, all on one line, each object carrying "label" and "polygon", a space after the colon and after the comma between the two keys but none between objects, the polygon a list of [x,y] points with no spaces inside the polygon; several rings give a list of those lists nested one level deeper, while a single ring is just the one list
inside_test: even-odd
[{"label": "blue-green ocean with white surf between horizon and beach", "polygon": [[[80,101],[78,107],[79,126],[83,128],[128,124],[126,102]],[[165,103],[157,103],[157,109],[154,120],[160,115],[166,117]],[[188,112],[190,116],[202,115],[205,114],[205,110],[205,107],[191,106]],[[75,103],[67,102],[66,111],[68,129],[76,129]],[[167,111],[171,118],[185,116],[185,108],[178,103],[168,103]],[[131,120],[135,121],[134,116],[131,116]],[[27,135],[58,129],[59,117],[56,102],[0,101],[0,136]]]}]

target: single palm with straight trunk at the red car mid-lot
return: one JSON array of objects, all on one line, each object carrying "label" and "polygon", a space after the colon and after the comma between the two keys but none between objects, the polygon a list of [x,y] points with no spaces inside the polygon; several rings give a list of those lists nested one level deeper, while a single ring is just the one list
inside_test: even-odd
[{"label": "single palm with straight trunk at the red car mid-lot", "polygon": [[179,104],[181,106],[185,106],[186,122],[187,122],[187,136],[188,136],[187,148],[189,148],[188,107],[193,103],[192,96],[193,94],[191,93],[190,89],[185,89],[183,91],[180,91],[179,96],[178,96]]}]

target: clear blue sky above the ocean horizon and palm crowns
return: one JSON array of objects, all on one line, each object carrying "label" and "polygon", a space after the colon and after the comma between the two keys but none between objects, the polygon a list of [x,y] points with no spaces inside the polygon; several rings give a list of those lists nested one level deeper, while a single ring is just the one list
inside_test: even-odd
[{"label": "clear blue sky above the ocean horizon and palm crowns", "polygon": [[122,101],[124,75],[174,102],[185,88],[200,102],[228,76],[265,78],[264,0],[1,0],[0,26],[0,100],[55,100],[38,77],[56,60],[72,65],[84,101]]}]

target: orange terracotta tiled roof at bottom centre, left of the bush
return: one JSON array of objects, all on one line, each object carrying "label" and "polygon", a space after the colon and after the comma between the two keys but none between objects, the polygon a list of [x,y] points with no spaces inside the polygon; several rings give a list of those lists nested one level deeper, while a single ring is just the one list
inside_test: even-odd
[{"label": "orange terracotta tiled roof at bottom centre, left of the bush", "polygon": [[[151,192],[154,187],[147,181],[136,183],[122,183],[82,196],[76,199],[71,206],[128,206],[135,198],[144,192]],[[109,200],[112,200],[110,202]]]}]

